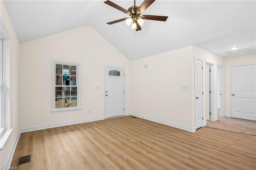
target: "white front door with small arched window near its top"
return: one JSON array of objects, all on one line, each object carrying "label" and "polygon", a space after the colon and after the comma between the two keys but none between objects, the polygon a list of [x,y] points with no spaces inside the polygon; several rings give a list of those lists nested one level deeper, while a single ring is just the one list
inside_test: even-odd
[{"label": "white front door with small arched window near its top", "polygon": [[124,115],[124,69],[105,67],[105,117]]}]

